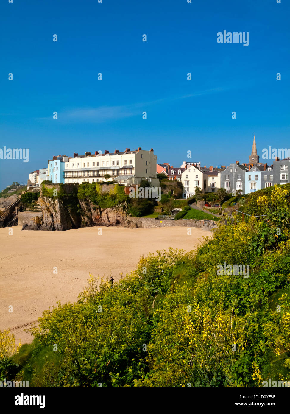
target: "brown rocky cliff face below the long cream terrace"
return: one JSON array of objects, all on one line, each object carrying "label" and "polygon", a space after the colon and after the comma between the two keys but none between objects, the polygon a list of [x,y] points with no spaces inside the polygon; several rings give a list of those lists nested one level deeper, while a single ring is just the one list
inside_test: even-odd
[{"label": "brown rocky cliff face below the long cream terrace", "polygon": [[64,231],[86,226],[137,227],[127,221],[125,205],[101,209],[85,199],[80,200],[77,206],[70,206],[61,199],[54,200],[50,197],[41,197],[39,204],[43,217],[34,217],[23,229]]}]

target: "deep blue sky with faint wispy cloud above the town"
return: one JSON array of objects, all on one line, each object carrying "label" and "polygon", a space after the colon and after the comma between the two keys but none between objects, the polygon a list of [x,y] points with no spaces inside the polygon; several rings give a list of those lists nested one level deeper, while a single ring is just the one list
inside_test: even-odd
[{"label": "deep blue sky with faint wispy cloud above the town", "polygon": [[[29,162],[0,160],[0,190],[58,154],[141,146],[216,166],[247,162],[254,132],[260,157],[290,147],[289,13],[286,0],[2,1],[0,148]],[[217,43],[223,30],[249,46]]]}]

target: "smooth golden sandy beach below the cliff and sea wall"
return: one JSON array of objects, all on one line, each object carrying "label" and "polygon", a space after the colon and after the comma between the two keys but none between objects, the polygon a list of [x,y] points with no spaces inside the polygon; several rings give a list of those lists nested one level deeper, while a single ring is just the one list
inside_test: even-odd
[{"label": "smooth golden sandy beach below the cliff and sea wall", "polygon": [[[10,328],[17,343],[32,342],[23,332],[43,310],[74,302],[89,273],[117,282],[135,269],[141,255],[169,247],[193,250],[209,231],[187,227],[126,229],[86,227],[68,231],[22,231],[21,226],[0,229],[0,330]],[[57,268],[57,273],[55,272]],[[13,306],[13,312],[9,312]]]}]

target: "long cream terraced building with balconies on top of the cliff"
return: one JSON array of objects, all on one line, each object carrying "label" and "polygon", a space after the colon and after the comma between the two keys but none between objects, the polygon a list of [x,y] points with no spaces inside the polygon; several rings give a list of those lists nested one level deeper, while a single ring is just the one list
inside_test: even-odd
[{"label": "long cream terraced building with balconies on top of the cliff", "polygon": [[[123,185],[139,184],[141,180],[151,182],[152,187],[160,185],[156,178],[157,156],[150,151],[142,150],[141,147],[135,151],[126,148],[124,152],[115,149],[114,152],[105,151],[95,154],[85,152],[84,155],[74,153],[74,156],[65,162],[63,179],[65,183],[100,183],[113,181]],[[105,178],[105,175],[110,178]]]}]

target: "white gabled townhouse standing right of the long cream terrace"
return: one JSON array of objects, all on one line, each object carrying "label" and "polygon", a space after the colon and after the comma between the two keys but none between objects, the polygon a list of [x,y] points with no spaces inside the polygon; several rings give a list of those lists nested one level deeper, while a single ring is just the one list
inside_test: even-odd
[{"label": "white gabled townhouse standing right of the long cream terrace", "polygon": [[207,188],[208,177],[206,173],[201,171],[196,165],[188,166],[185,171],[181,173],[182,198],[193,197],[195,195],[196,187],[199,187],[204,193],[204,179],[206,179]]}]

